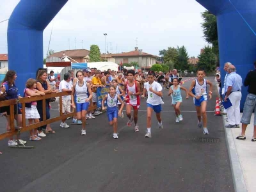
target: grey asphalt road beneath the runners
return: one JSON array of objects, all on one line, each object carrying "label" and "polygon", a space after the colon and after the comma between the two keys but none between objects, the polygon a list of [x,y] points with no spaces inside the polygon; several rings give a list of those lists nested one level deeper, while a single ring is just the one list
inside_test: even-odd
[{"label": "grey asphalt road beneath the runners", "polygon": [[[147,113],[143,99],[140,132],[126,126],[127,118],[118,118],[118,140],[113,139],[103,113],[88,120],[86,136],[80,135],[80,125],[61,129],[56,122],[52,124],[56,134],[47,134],[41,141],[28,141],[28,133],[22,134],[35,149],[9,148],[7,140],[0,141],[0,191],[234,191],[222,119],[213,112],[215,83],[213,99],[207,104],[207,136],[196,125],[192,98],[184,99],[184,120],[176,123],[168,90],[163,93],[164,129],[157,129],[153,116],[152,138],[144,138]],[[54,104],[51,115],[57,113]],[[0,118],[0,132],[4,125]]]}]

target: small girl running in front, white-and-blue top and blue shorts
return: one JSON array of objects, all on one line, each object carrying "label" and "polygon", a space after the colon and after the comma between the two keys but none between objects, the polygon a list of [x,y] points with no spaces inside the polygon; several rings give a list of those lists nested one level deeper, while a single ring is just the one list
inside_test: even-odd
[{"label": "small girl running in front, white-and-blue top and blue shorts", "polygon": [[[122,110],[124,108],[124,102],[122,99],[116,94],[115,86],[109,86],[109,93],[102,99],[102,110],[105,110],[104,102],[107,101],[107,113],[108,113],[108,121],[109,125],[113,125],[113,138],[118,139],[117,134],[117,115],[122,116]],[[121,103],[121,107],[119,111],[117,111],[117,102]]]}]

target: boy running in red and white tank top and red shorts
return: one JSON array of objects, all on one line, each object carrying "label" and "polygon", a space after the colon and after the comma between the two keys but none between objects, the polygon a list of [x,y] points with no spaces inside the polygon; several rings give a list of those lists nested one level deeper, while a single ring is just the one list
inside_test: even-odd
[{"label": "boy running in red and white tank top and red shorts", "polygon": [[[132,121],[134,121],[134,131],[139,131],[138,122],[138,110],[140,108],[140,83],[134,79],[134,70],[127,70],[127,82],[124,86],[124,91],[127,94],[124,99],[126,105],[126,115],[129,118],[127,126],[131,127]],[[133,117],[131,116],[131,110],[133,108]]]}]

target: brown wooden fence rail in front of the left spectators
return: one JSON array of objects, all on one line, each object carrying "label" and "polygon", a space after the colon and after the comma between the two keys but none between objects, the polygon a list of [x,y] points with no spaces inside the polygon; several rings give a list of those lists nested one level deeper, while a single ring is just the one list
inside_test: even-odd
[{"label": "brown wooden fence rail in front of the left spectators", "polygon": [[[65,95],[70,95],[71,93],[68,92],[59,92],[59,93],[51,93],[51,94],[46,94],[42,96],[35,96],[35,97],[24,97],[21,99],[10,99],[10,100],[4,100],[0,102],[0,108],[3,106],[10,106],[10,131],[4,132],[3,134],[0,134],[0,140],[3,140],[4,138],[10,138],[11,136],[18,134],[18,131],[20,132],[25,132],[25,131],[30,131],[31,129],[36,129],[38,127],[42,127],[43,125],[51,124],[53,122],[58,122],[62,119],[68,118],[69,116],[75,116],[76,111],[72,111],[71,113],[63,115],[62,108],[60,107],[60,116],[56,116],[54,118],[49,118],[46,120],[46,113],[45,113],[45,99],[50,99],[52,97],[60,97],[59,102],[60,106],[62,106],[62,97]],[[25,103],[26,102],[32,102],[36,100],[42,100],[43,102],[43,120],[42,122],[38,122],[36,124],[31,124],[31,125],[26,125],[26,111],[25,111]],[[17,110],[15,107],[15,104],[21,104],[22,106],[22,126],[20,129],[17,129],[18,127],[15,127],[14,120],[15,120],[15,115],[14,112]],[[96,106],[92,106],[92,102],[90,102],[90,106],[88,108],[88,111],[92,111],[96,109]]]}]

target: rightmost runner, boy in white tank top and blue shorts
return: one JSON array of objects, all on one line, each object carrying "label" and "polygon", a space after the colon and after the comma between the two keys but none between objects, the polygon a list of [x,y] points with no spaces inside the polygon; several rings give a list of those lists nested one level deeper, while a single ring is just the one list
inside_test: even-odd
[{"label": "rightmost runner, boy in white tank top and blue shorts", "polygon": [[212,83],[204,79],[205,72],[204,70],[197,70],[197,78],[192,81],[189,88],[189,95],[194,97],[194,104],[196,106],[196,113],[198,122],[197,125],[199,128],[202,127],[202,116],[204,122],[204,134],[209,134],[207,129],[207,115],[206,115],[206,106],[207,106],[207,84],[210,86],[209,99],[212,99]]}]

